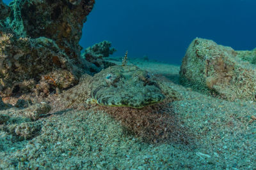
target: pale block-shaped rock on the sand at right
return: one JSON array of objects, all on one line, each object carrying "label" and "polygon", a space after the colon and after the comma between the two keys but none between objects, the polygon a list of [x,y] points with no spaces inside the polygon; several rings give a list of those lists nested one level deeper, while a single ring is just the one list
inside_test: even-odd
[{"label": "pale block-shaped rock on the sand at right", "polygon": [[255,101],[256,50],[235,51],[214,41],[196,38],[189,45],[180,80],[225,99]]}]

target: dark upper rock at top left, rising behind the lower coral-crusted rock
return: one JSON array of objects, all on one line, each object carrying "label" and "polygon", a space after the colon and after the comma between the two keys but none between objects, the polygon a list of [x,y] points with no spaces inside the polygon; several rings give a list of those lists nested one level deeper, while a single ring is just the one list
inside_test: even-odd
[{"label": "dark upper rock at top left, rising behind the lower coral-crusted rock", "polygon": [[11,14],[5,24],[18,36],[51,38],[70,58],[77,60],[83,23],[94,3],[94,0],[15,0],[10,3]]}]

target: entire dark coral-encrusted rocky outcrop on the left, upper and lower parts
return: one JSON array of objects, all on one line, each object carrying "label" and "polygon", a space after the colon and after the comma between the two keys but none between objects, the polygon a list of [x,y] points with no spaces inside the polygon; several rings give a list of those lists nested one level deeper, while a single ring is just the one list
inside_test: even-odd
[{"label": "entire dark coral-encrusted rocky outcrop on the left, upper and lower parts", "polygon": [[[1,4],[3,2],[1,1]],[[76,85],[88,72],[79,39],[93,0],[15,0],[1,6],[0,95],[48,96]],[[3,8],[3,11],[2,11]]]}]

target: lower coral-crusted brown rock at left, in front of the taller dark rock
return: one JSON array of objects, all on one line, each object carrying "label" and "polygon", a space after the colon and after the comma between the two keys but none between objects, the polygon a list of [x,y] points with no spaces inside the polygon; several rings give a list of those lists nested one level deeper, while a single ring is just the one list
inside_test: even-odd
[{"label": "lower coral-crusted brown rock at left, in front of the taller dark rock", "polygon": [[38,81],[49,89],[64,89],[76,84],[83,70],[49,38],[17,38],[0,32],[0,94],[31,92]]}]

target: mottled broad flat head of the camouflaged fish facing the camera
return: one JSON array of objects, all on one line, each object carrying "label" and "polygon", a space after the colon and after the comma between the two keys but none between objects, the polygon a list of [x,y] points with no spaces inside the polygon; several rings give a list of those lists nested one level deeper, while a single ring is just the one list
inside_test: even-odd
[{"label": "mottled broad flat head of the camouflaged fish facing the camera", "polygon": [[103,106],[143,108],[165,98],[157,82],[136,66],[111,66],[93,76],[92,99]]}]

